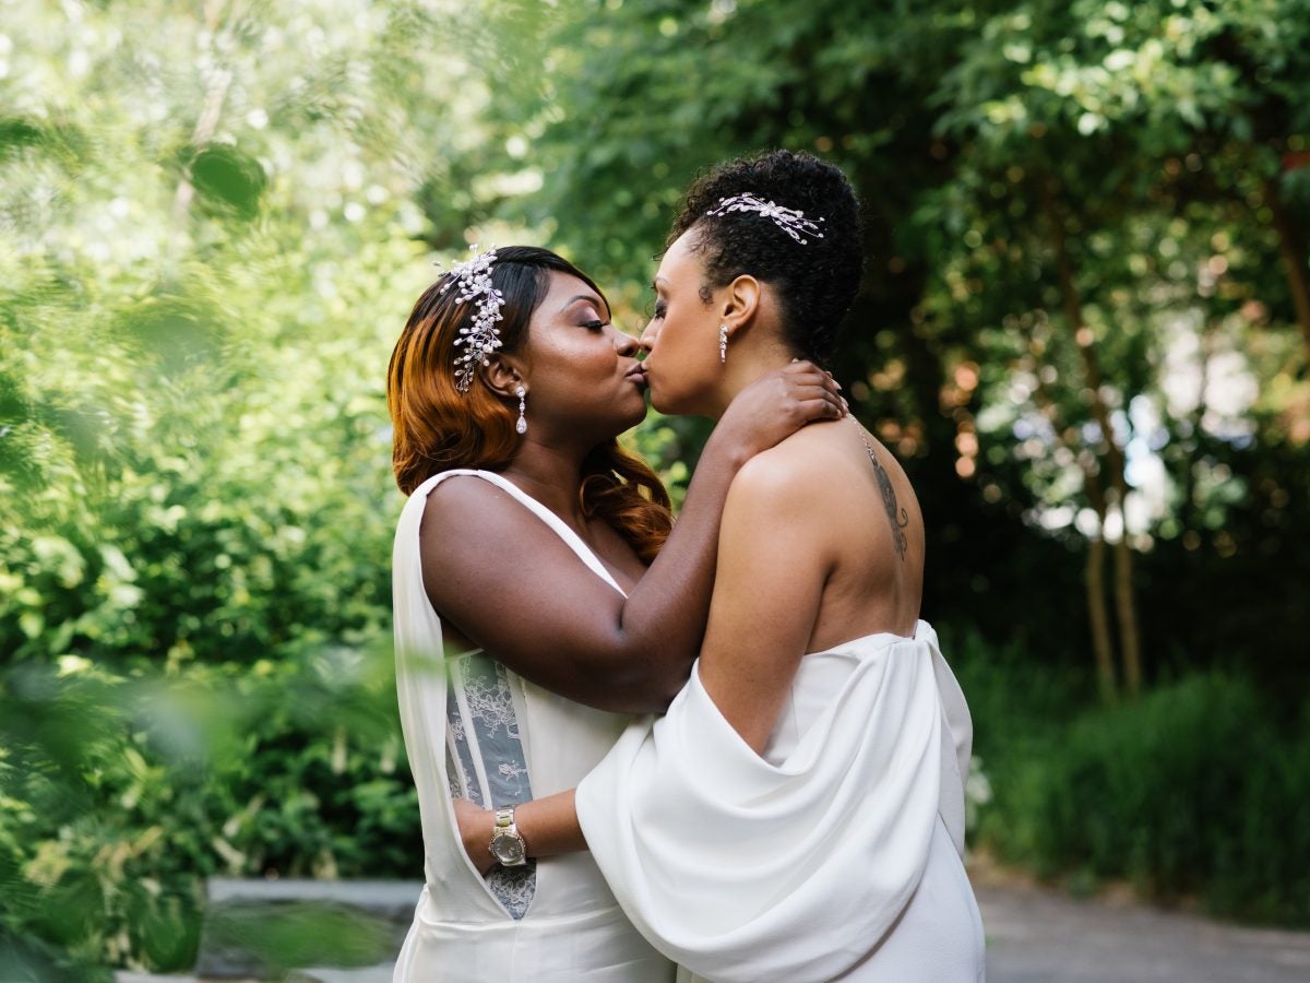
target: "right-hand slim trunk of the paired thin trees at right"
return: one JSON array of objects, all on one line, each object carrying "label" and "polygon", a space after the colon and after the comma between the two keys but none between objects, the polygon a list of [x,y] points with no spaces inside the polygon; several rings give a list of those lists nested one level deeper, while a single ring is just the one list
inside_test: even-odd
[{"label": "right-hand slim trunk of the paired thin trees at right", "polygon": [[[1104,472],[1117,498],[1119,514],[1124,528],[1115,544],[1115,613],[1119,620],[1119,645],[1124,659],[1124,684],[1129,695],[1141,688],[1141,633],[1137,625],[1137,604],[1133,598],[1133,557],[1128,547],[1127,502],[1128,480],[1124,477],[1124,453],[1115,443],[1115,431],[1110,423],[1110,409],[1100,396],[1100,366],[1091,347],[1091,333],[1083,324],[1082,299],[1073,278],[1073,261],[1069,257],[1069,244],[1065,239],[1064,218],[1056,206],[1055,181],[1041,183],[1043,204],[1051,224],[1051,240],[1056,253],[1056,274],[1060,280],[1060,298],[1064,313],[1074,333],[1074,345],[1082,358],[1083,381],[1091,398],[1091,415],[1100,427],[1104,442]],[[1102,536],[1104,537],[1104,518],[1102,511]]]}]

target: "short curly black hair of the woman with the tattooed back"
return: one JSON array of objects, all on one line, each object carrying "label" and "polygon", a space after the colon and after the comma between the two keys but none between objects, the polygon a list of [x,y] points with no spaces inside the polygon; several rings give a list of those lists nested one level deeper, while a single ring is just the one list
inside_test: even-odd
[{"label": "short curly black hair of the woman with the tattooed back", "polygon": [[[823,219],[823,237],[802,245],[758,212],[706,215],[719,201],[749,191],[757,198]],[[804,358],[823,362],[859,291],[865,269],[859,202],[833,164],[793,151],[768,151],[719,164],[698,177],[673,220],[665,248],[694,228],[702,257],[701,296],[749,274],[769,283],[782,307],[783,337]]]}]

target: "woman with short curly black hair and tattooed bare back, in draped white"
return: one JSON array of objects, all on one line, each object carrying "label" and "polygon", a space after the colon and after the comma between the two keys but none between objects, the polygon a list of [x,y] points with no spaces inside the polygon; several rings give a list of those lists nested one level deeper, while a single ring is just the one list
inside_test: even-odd
[{"label": "woman with short curly black hair and tattooed bare back, in draped white", "polygon": [[[658,409],[718,418],[761,375],[828,354],[861,269],[840,170],[786,152],[724,165],[669,240],[642,336]],[[982,978],[972,730],[920,620],[924,541],[909,480],[854,418],[735,477],[688,685],[575,797],[601,873],[680,979]],[[554,811],[529,843],[570,828],[572,803],[533,803]],[[483,814],[461,820],[485,835]]]}]

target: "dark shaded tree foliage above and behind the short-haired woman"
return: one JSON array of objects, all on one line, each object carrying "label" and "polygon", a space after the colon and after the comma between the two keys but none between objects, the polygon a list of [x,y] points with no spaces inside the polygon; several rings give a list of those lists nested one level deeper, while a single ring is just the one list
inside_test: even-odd
[{"label": "dark shaded tree foliage above and behind the short-haired woman", "polygon": [[[536,100],[491,92],[476,163],[528,191],[487,207],[549,228],[635,311],[696,172],[773,145],[841,164],[866,202],[870,266],[832,368],[916,481],[925,611],[1087,658],[1069,612],[1089,543],[1127,527],[1148,676],[1179,650],[1282,672],[1271,653],[1303,637],[1302,615],[1265,620],[1272,646],[1205,617],[1180,637],[1153,591],[1180,565],[1180,594],[1254,590],[1263,565],[1256,583],[1285,596],[1268,571],[1310,570],[1310,325],[1284,246],[1310,263],[1273,208],[1310,224],[1306,10],[561,4],[534,41]],[[1110,438],[1123,502],[1103,473]],[[1104,528],[1089,471],[1110,489]]]}]

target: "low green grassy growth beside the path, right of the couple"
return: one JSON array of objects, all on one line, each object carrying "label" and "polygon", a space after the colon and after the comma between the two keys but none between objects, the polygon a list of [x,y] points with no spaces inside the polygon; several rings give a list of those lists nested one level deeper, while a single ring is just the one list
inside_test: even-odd
[{"label": "low green grassy growth beside the path, right of the couple", "polygon": [[[1018,682],[1013,667],[993,671]],[[1276,720],[1267,696],[1225,675],[1068,722],[1036,695],[1003,712],[973,703],[994,793],[984,843],[1081,889],[1129,879],[1217,915],[1310,924],[1310,714]]]}]

